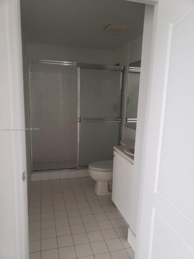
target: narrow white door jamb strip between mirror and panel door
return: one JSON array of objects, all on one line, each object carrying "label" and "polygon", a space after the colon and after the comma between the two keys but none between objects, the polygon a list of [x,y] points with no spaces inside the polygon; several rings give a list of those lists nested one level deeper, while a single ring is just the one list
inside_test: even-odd
[{"label": "narrow white door jamb strip between mirror and panel door", "polygon": [[[148,94],[148,81],[149,81],[149,69],[150,69],[150,55],[152,48],[152,28],[153,28],[153,13],[154,6],[146,5],[144,28],[143,28],[143,48],[142,48],[142,62],[141,62],[141,73],[140,73],[140,87],[139,87],[139,103],[137,112],[137,128],[135,138],[135,156],[133,165],[133,185],[132,185],[132,199],[131,199],[131,222],[130,229],[136,235],[137,232],[137,215],[138,215],[138,204],[139,204],[139,188],[140,188],[140,173],[142,165],[142,150],[143,150],[143,139],[144,139],[144,127],[147,107],[147,94]],[[140,41],[140,39],[138,40]],[[137,43],[140,50],[141,44]],[[131,44],[135,49],[135,43]],[[137,59],[140,59],[140,54],[136,52]],[[132,55],[131,62],[135,62],[135,55]],[[126,127],[125,127],[126,128]]]}]

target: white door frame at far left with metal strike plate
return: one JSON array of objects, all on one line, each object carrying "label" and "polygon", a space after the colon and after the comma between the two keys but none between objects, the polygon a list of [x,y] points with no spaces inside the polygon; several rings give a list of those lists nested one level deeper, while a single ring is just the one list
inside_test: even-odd
[{"label": "white door frame at far left with metal strike plate", "polygon": [[[20,1],[0,1],[1,12],[1,251],[5,259],[27,259],[28,202]],[[22,179],[23,172],[25,178]]]}]

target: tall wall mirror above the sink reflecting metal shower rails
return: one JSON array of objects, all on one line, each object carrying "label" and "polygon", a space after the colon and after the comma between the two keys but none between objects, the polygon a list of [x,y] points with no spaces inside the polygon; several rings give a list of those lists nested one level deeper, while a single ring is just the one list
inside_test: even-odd
[{"label": "tall wall mirror above the sink reflecting metal shower rails", "polygon": [[129,65],[125,126],[136,130],[141,61]]}]

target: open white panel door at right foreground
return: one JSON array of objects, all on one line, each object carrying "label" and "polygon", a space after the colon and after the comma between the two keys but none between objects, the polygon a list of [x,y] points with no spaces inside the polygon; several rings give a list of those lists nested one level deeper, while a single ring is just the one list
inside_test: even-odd
[{"label": "open white panel door at right foreground", "polygon": [[194,258],[194,1],[155,6],[135,258]]}]

